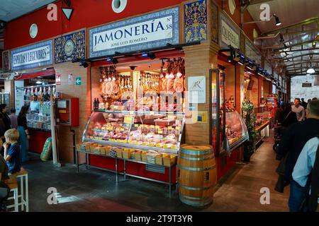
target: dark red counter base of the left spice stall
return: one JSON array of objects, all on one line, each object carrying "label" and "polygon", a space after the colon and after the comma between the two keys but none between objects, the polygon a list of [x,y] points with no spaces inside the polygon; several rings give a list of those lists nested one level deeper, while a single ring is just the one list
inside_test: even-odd
[{"label": "dark red counter base of the left spice stall", "polygon": [[45,144],[47,138],[51,136],[51,132],[35,129],[28,129],[28,131],[30,133],[29,151],[32,153],[41,154],[43,151],[43,145]]}]

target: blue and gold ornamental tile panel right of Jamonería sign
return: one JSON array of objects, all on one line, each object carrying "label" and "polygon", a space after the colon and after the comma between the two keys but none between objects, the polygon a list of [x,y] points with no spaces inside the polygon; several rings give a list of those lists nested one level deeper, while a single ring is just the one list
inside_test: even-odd
[{"label": "blue and gold ornamental tile panel right of Jamoner\u00eda sign", "polygon": [[206,0],[185,4],[184,11],[185,42],[207,40]]}]

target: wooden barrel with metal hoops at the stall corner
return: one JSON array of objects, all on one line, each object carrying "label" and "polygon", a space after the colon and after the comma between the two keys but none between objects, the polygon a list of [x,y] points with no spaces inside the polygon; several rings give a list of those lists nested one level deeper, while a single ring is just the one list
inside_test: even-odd
[{"label": "wooden barrel with metal hoops at the stall corner", "polygon": [[211,145],[181,145],[177,161],[181,202],[196,207],[213,202],[217,182],[216,163]]}]

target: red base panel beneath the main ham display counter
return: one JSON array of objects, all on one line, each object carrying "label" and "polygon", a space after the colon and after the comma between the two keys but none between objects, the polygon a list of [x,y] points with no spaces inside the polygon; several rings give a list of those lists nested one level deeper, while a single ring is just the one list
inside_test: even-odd
[{"label": "red base panel beneath the main ham display counter", "polygon": [[[89,163],[95,167],[115,171],[115,159],[98,155],[89,155]],[[123,160],[118,160],[118,171],[123,171]],[[146,165],[137,162],[126,162],[126,172],[139,177],[156,179],[162,182],[169,182],[169,169],[165,167],[165,173],[157,173],[146,170]],[[172,167],[172,182],[176,182],[176,166]]]}]

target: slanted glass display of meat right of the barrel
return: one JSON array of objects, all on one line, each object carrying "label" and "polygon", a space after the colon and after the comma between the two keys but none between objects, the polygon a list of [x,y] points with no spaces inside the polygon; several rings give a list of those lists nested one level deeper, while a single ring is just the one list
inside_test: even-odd
[{"label": "slanted glass display of meat right of the barrel", "polygon": [[235,110],[226,112],[226,137],[230,151],[248,140],[249,134],[244,119]]}]

